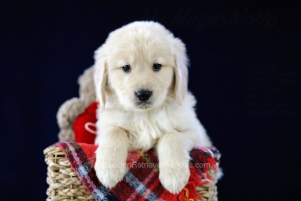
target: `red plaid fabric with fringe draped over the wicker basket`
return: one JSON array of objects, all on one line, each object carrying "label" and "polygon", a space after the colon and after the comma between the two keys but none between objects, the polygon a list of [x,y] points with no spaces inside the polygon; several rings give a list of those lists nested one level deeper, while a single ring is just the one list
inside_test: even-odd
[{"label": "red plaid fabric with fringe draped over the wicker basket", "polygon": [[130,152],[127,157],[127,172],[122,181],[113,188],[106,188],[96,177],[94,170],[96,145],[85,143],[57,143],[68,158],[85,188],[96,200],[194,200],[202,197],[196,186],[211,181],[207,171],[217,170],[220,153],[215,148],[196,148],[190,153],[191,176],[179,194],[166,190],[159,180],[158,159],[154,150]]}]

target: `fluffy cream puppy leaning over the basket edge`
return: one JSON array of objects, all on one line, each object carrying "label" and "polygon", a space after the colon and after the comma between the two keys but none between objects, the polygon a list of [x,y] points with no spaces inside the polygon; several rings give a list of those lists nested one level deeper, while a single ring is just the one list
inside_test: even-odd
[{"label": "fluffy cream puppy leaning over the basket edge", "polygon": [[162,185],[172,193],[186,185],[190,150],[212,145],[187,91],[187,65],[184,43],[155,22],[125,25],[96,50],[95,170],[105,186],[122,180],[128,151],[151,148]]}]

